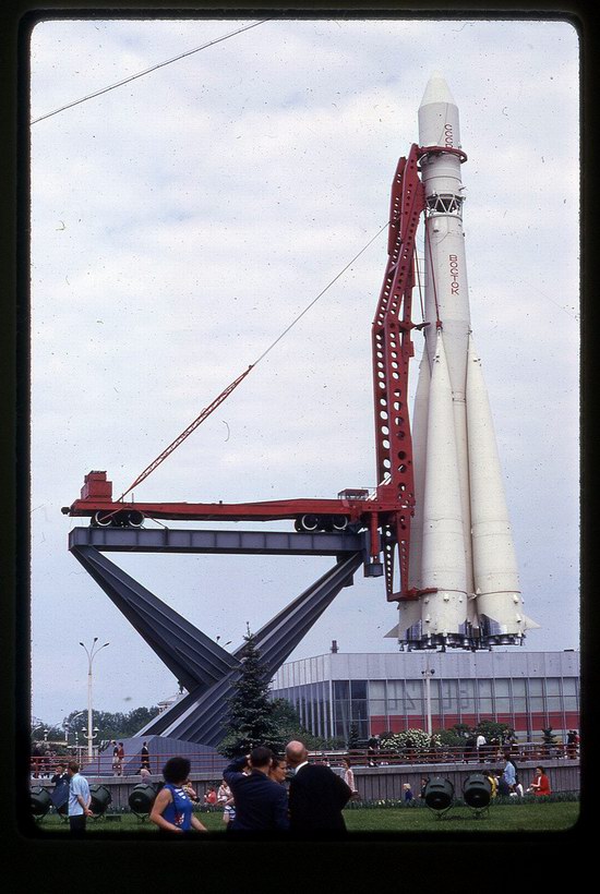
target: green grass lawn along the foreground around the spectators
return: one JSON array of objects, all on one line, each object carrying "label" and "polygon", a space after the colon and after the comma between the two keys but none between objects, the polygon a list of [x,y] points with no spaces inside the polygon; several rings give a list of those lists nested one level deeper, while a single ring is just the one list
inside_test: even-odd
[{"label": "green grass lawn along the foreground around the spectators", "polygon": [[[215,837],[225,833],[220,812],[200,813],[200,819]],[[346,825],[350,832],[397,832],[401,835],[423,832],[560,832],[569,829],[579,816],[578,801],[555,801],[547,804],[494,805],[479,817],[468,807],[457,806],[443,816],[433,813],[425,807],[415,808],[370,808],[345,810]],[[69,824],[55,814],[45,817],[39,823],[40,832],[69,834]],[[130,836],[132,832],[154,835],[156,826],[147,820],[140,820],[131,813],[109,816],[88,821],[87,831],[96,837],[105,832]],[[220,834],[219,834],[220,833]]]}]

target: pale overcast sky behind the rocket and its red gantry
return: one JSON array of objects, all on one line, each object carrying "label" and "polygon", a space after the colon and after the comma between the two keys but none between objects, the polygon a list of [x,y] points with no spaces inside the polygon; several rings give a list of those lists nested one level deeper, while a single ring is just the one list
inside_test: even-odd
[{"label": "pale overcast sky behind the rocket and its red gantry", "polygon": [[[32,119],[249,21],[39,23]],[[468,155],[472,326],[526,612],[541,625],[525,648],[578,648],[578,64],[561,22],[271,21],[32,125],[34,715],[60,723],[86,706],[79,643],[94,637],[110,642],[94,663],[95,708],[177,691],[69,553],[87,520],[60,507],[92,469],[119,496],[385,225],[434,70]],[[136,499],[375,484],[371,322],[385,246],[382,233]],[[417,369],[418,358],[412,384]],[[230,649],[331,565],[109,558]],[[332,639],[343,652],[397,650],[383,580],[355,580],[292,659]]]}]

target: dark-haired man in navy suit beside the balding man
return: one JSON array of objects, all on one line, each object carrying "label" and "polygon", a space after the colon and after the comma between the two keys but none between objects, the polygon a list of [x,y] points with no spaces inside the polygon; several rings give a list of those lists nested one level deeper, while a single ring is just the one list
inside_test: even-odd
[{"label": "dark-haired man in navy suit beside the balding man", "polygon": [[[288,796],[285,787],[268,778],[273,759],[271,748],[259,746],[250,754],[235,758],[223,777],[233,795],[236,819],[231,832],[287,831]],[[247,768],[248,773],[242,773]]]}]

